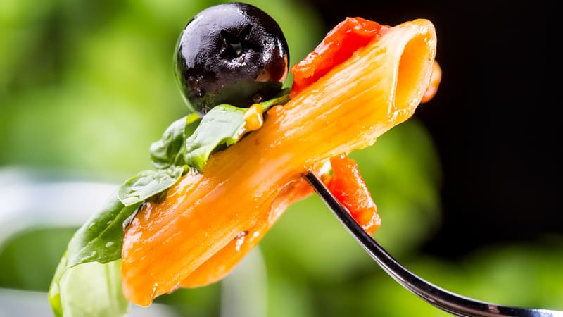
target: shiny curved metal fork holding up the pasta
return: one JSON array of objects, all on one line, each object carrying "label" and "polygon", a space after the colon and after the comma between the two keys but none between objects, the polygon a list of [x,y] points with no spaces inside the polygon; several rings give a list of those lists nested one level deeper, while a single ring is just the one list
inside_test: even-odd
[{"label": "shiny curved metal fork holding up the pasta", "polygon": [[350,216],[348,211],[331,194],[324,183],[310,172],[306,174],[305,180],[315,189],[325,204],[339,218],[340,222],[346,227],[350,235],[372,256],[381,268],[393,279],[403,285],[410,292],[436,306],[438,309],[452,313],[455,316],[464,317],[499,317],[499,316],[521,316],[521,317],[563,317],[563,311],[553,311],[548,309],[531,309],[517,306],[502,306],[498,304],[481,302],[476,299],[464,297],[448,290],[444,290],[431,282],[419,278],[402,266],[391,254],[368,235],[358,223]]}]

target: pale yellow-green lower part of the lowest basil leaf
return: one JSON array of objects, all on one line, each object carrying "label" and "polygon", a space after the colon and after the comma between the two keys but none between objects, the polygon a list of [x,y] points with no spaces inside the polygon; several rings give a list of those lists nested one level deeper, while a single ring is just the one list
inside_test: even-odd
[{"label": "pale yellow-green lower part of the lowest basil leaf", "polygon": [[54,316],[125,316],[129,303],[122,292],[121,260],[67,267],[63,256],[49,288]]}]

